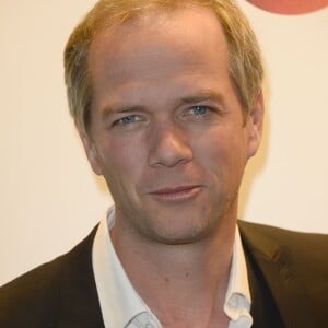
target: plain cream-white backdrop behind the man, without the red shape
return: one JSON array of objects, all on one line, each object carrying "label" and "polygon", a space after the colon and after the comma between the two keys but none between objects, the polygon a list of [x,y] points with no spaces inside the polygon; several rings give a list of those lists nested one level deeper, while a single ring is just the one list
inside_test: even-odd
[{"label": "plain cream-white backdrop behind the man, without the red shape", "polygon": [[[67,251],[104,215],[68,115],[62,50],[94,0],[0,0],[0,285]],[[263,143],[239,216],[328,233],[328,9],[284,16],[238,1],[268,80]]]}]

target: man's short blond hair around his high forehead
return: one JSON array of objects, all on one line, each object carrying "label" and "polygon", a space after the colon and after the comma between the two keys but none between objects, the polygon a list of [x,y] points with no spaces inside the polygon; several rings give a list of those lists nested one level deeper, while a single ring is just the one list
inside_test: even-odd
[{"label": "man's short blond hair around his high forehead", "polygon": [[138,19],[150,9],[168,12],[189,3],[210,9],[223,27],[230,74],[244,117],[249,114],[261,89],[263,68],[257,38],[233,0],[99,0],[74,28],[65,49],[69,108],[79,130],[89,133],[90,128],[93,85],[87,57],[95,35],[107,27]]}]

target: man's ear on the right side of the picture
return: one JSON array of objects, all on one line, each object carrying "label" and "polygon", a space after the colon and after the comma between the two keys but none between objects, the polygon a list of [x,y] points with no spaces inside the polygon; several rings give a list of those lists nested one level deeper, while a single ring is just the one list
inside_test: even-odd
[{"label": "man's ear on the right side of the picture", "polygon": [[248,129],[248,151],[247,159],[254,156],[260,145],[262,137],[262,124],[265,115],[265,102],[262,91],[258,93],[254,107],[249,113],[246,121]]}]

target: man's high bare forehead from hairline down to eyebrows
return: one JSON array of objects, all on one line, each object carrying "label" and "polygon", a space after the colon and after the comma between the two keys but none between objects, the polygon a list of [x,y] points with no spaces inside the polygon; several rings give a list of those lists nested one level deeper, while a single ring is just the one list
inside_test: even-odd
[{"label": "man's high bare forehead from hairline down to eyebrows", "polygon": [[167,105],[202,90],[227,93],[227,44],[214,14],[197,7],[162,15],[97,35],[89,58],[93,108]]}]

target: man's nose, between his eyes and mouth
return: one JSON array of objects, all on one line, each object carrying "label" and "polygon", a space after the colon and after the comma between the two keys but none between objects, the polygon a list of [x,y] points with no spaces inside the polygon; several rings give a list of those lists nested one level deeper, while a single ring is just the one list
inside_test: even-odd
[{"label": "man's nose, between his eyes and mouth", "polygon": [[149,165],[174,167],[192,160],[186,132],[174,124],[153,128],[150,136]]}]

